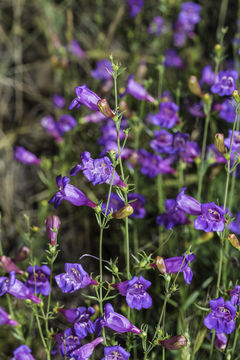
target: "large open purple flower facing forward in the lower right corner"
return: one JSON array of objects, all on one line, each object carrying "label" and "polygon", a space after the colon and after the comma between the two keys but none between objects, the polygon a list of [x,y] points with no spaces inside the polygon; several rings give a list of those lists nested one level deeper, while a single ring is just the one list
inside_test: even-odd
[{"label": "large open purple flower facing forward in the lower right corner", "polygon": [[217,334],[231,334],[235,330],[235,306],[230,301],[224,302],[222,297],[211,300],[209,304],[212,312],[205,317],[204,325],[210,330],[215,329]]}]

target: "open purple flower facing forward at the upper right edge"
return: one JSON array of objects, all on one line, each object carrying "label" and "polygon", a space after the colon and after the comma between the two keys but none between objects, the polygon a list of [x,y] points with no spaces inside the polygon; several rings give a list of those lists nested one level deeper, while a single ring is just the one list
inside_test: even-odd
[{"label": "open purple flower facing forward at the upper right edge", "polygon": [[235,70],[220,71],[214,85],[211,86],[211,91],[219,96],[232,95],[233,90],[236,89],[236,81],[238,79],[238,72]]}]

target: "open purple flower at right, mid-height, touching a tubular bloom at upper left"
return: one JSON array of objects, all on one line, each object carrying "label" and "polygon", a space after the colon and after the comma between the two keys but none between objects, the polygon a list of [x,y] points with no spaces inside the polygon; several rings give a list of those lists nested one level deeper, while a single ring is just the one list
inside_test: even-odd
[{"label": "open purple flower at right, mid-height, touching a tubular bloom at upper left", "polygon": [[197,230],[209,231],[223,231],[225,228],[224,211],[220,206],[214,202],[201,204],[201,215],[194,220],[194,228]]}]

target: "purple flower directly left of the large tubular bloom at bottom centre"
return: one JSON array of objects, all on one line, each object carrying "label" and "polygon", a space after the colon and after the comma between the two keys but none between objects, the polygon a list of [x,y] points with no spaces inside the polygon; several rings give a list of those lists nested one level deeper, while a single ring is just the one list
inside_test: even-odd
[{"label": "purple flower directly left of the large tubular bloom at bottom centre", "polygon": [[85,338],[88,333],[93,334],[95,326],[90,320],[90,317],[95,313],[95,310],[90,306],[88,309],[80,306],[73,309],[59,309],[67,321],[74,324],[74,330],[81,339]]}]

